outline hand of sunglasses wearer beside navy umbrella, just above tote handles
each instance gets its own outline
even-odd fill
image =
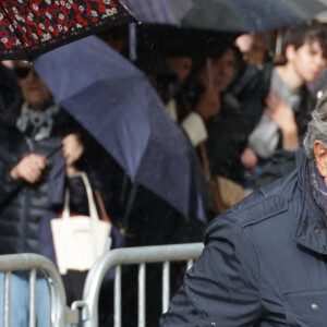
[[[84,153],[84,145],[81,136],[76,133],[66,135],[62,140],[62,153],[65,157],[66,174],[73,175],[77,172],[75,164],[80,160]]]

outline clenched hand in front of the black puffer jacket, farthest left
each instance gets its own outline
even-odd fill
[[[12,168],[10,175],[13,180],[22,179],[34,184],[41,178],[46,165],[47,159],[44,156],[31,154]]]

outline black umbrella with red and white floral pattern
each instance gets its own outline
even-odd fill
[[[119,0],[0,1],[0,60],[33,60],[63,44],[135,22]]]

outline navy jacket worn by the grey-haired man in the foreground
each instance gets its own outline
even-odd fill
[[[217,217],[205,244],[160,326],[326,326],[326,218],[307,161]]]

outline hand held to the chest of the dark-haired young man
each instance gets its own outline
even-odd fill
[[[282,135],[282,147],[295,148],[300,144],[299,130],[294,110],[281,99],[278,93],[269,94],[266,98],[264,112],[276,123]]]

